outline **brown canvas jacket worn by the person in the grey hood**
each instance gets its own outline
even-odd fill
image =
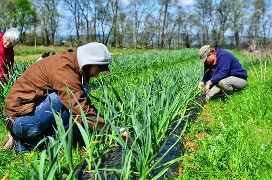
[[[86,99],[82,87],[82,75],[77,61],[77,52],[62,52],[46,57],[31,66],[14,83],[4,105],[4,116],[16,117],[34,110],[35,104],[47,96],[47,89],[56,90],[62,104],[70,109],[69,94],[64,85],[67,85],[80,103],[86,117],[96,122],[95,107]],[[80,115],[79,106],[70,94],[72,111]],[[77,119],[80,123],[81,118]],[[99,118],[98,131],[103,127],[103,120]],[[94,122],[88,121],[89,127],[94,128]]]

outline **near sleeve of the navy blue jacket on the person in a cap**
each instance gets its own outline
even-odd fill
[[[230,59],[227,55],[220,56],[220,63],[218,64],[218,71],[211,79],[213,84],[218,83],[220,80],[227,78],[230,74]]]

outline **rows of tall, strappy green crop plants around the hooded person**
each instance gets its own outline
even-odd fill
[[[76,179],[77,168],[86,161],[88,172],[95,179],[104,179],[103,175],[110,173],[120,179],[131,179],[134,176],[144,180],[150,178],[150,172],[157,169],[161,171],[153,179],[163,176],[171,164],[181,160],[180,157],[158,166],[171,150],[170,148],[162,158],[157,159],[164,147],[163,142],[175,132],[174,129],[166,134],[166,130],[170,124],[186,118],[184,114],[188,103],[199,95],[196,86],[202,68],[196,63],[196,54],[196,51],[187,50],[114,56],[110,65],[114,75],[101,75],[98,79],[91,80],[91,83],[98,85],[98,89],[91,91],[89,95],[99,109],[99,115],[105,120],[103,131],[90,131],[87,128],[88,118],[83,111],[83,124],[79,124],[77,118],[70,115],[71,126],[65,131],[61,117],[53,112],[57,122],[56,138],[47,137],[41,140],[40,144],[50,144],[45,145],[42,151],[34,150],[19,156],[11,153],[11,156],[21,159],[20,163],[1,162],[1,167],[14,168],[10,171],[0,169],[0,175],[4,176],[9,172],[11,179]],[[16,66],[18,71],[14,71],[7,85],[2,85],[1,90],[8,92],[30,63],[32,62]],[[70,98],[74,98],[69,88],[67,92],[70,93]],[[175,119],[177,116],[180,119]],[[72,127],[79,129],[84,142],[83,148],[72,146]],[[131,132],[129,138],[123,139],[116,127],[124,127]],[[2,130],[4,126],[1,125],[0,128]],[[176,143],[180,141],[177,140]],[[123,168],[99,169],[103,155],[117,146],[123,149]],[[1,159],[4,158],[7,157],[4,155]],[[18,166],[21,168],[18,169]]]

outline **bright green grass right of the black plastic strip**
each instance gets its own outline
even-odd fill
[[[248,57],[240,59],[249,64]],[[259,62],[253,64],[260,75]],[[195,149],[185,153],[180,179],[267,178],[260,173],[266,169],[268,176],[272,162],[272,66],[266,65],[265,82],[248,71],[246,89],[206,103],[190,128],[188,142]]]

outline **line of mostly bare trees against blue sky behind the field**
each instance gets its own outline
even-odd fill
[[[271,45],[271,0],[0,0],[0,31],[21,42],[255,49]],[[15,10],[16,9],[16,10]]]

